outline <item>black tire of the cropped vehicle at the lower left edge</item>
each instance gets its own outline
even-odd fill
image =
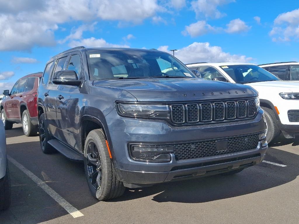
[[[10,206],[10,178],[8,167],[6,168],[6,174],[3,177],[3,185],[0,185],[0,211],[7,210]]]

